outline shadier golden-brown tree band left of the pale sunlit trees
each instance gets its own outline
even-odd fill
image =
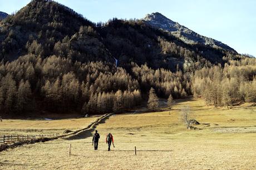
[[[27,54],[0,63],[0,111],[22,113],[121,112],[146,100],[151,87],[158,97],[191,94],[188,74],[130,64],[129,71],[106,62],[73,62]],[[144,98],[144,99],[143,99]]]

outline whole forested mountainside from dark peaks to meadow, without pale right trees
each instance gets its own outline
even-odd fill
[[[121,112],[146,101],[151,87],[158,97],[204,97],[204,88],[194,86],[196,71],[247,58],[187,44],[140,20],[95,24],[46,0],[31,1],[0,22],[0,42],[4,115]],[[252,81],[254,69],[248,74]]]

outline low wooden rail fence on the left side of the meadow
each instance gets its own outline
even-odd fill
[[[31,139],[38,138],[49,138],[49,137],[57,137],[59,133],[54,134],[27,134],[27,135],[10,135],[10,136],[0,136],[0,143],[14,143],[18,141],[29,141]]]

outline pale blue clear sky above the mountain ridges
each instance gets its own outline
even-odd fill
[[[214,38],[239,53],[256,57],[255,0],[56,0],[92,22],[110,18],[144,18],[160,12],[203,36]],[[0,11],[11,14],[30,0],[0,0]]]

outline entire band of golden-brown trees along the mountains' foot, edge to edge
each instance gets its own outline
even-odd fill
[[[206,104],[228,106],[256,102],[256,61],[229,60],[224,67],[204,67],[189,72],[152,69],[130,63],[130,69],[106,62],[72,62],[51,56],[28,54],[0,63],[0,111],[24,113],[38,109],[51,112],[122,112],[149,98],[202,97]]]

